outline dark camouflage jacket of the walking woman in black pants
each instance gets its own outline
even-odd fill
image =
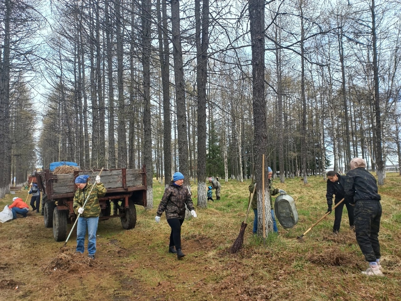
[[[162,216],[163,212],[166,211],[167,220],[170,218],[184,220],[185,204],[188,210],[195,210],[188,189],[184,186],[174,185],[172,182],[164,191],[164,195],[157,209],[157,216]]]

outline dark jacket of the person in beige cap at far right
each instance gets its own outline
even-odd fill
[[[380,201],[376,179],[363,167],[348,171],[344,191],[351,203],[360,200]]]

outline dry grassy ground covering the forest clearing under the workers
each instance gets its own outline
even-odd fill
[[[170,227],[164,215],[154,222],[164,190],[154,181],[154,209],[137,207],[136,228],[123,230],[118,219],[99,223],[95,260],[74,253],[75,233],[68,249],[61,249],[63,242],[53,240],[40,214],[0,224],[0,300],[401,300],[399,179],[388,174],[379,189],[384,278],[360,274],[367,264],[348,229],[345,209],[338,235],[331,232],[332,214],[302,240],[296,238],[326,210],[322,178],[309,178],[307,187],[299,179],[282,185],[276,179],[275,187],[296,201],[298,224],[289,230],[279,226],[279,236],[269,236],[263,246],[252,235],[250,214],[237,254],[229,248],[245,218],[249,180],[223,182],[221,200],[197,208],[198,218],[184,222],[184,260],[167,252]],[[196,195],[196,185],[192,192]],[[7,195],[0,207],[11,199]]]

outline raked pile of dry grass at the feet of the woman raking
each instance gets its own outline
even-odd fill
[[[46,275],[57,270],[70,271],[70,270],[81,270],[87,268],[88,266],[94,267],[98,263],[96,260],[89,258],[82,253],[76,253],[73,250],[67,250],[59,254],[56,258],[53,258],[49,263],[41,266],[41,270]]]

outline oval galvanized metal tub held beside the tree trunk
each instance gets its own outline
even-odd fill
[[[274,202],[274,214],[280,225],[289,229],[298,223],[298,211],[295,201],[288,194],[280,194]]]

